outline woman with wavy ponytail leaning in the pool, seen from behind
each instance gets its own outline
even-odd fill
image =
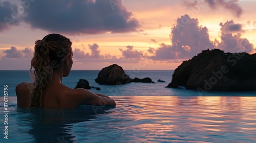
[[[116,105],[108,96],[87,89],[72,89],[61,83],[73,64],[70,39],[59,34],[49,34],[35,41],[31,60],[31,76],[34,82],[22,82],[16,86],[17,106],[30,108],[75,108],[87,105]],[[34,71],[32,72],[32,68]]]

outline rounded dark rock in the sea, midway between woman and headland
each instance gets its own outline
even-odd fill
[[[117,64],[102,68],[98,78],[95,79],[95,82],[107,85],[125,84],[131,81],[132,79],[124,73],[123,68]]]

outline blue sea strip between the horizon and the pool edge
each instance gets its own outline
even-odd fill
[[[196,90],[165,88],[171,81],[174,70],[125,70],[132,79],[149,77],[155,83],[128,83],[124,85],[99,85],[94,80],[100,70],[71,70],[68,77],[62,78],[62,83],[75,88],[79,79],[88,80],[90,86],[100,87],[101,90],[90,89],[93,92],[108,96],[256,96],[256,91],[220,92],[210,91],[199,93]],[[29,70],[0,70],[0,86],[8,85],[9,96],[14,97],[15,87],[23,81],[31,82]],[[157,80],[165,82],[157,82]]]

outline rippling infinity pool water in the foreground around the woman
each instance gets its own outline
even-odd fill
[[[112,98],[115,108],[42,110],[17,108],[9,97],[1,142],[256,142],[255,97]]]

